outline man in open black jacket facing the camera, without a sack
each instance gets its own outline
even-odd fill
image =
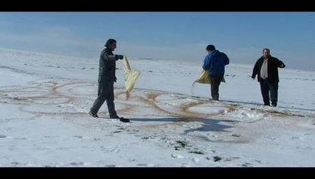
[[[260,82],[260,90],[262,92],[262,98],[264,99],[264,105],[269,106],[271,100],[271,105],[276,107],[279,83],[278,68],[284,68],[286,65],[276,57],[272,57],[269,49],[264,49],[262,53],[262,57],[256,61],[251,78],[255,79],[257,74],[257,80]]]

